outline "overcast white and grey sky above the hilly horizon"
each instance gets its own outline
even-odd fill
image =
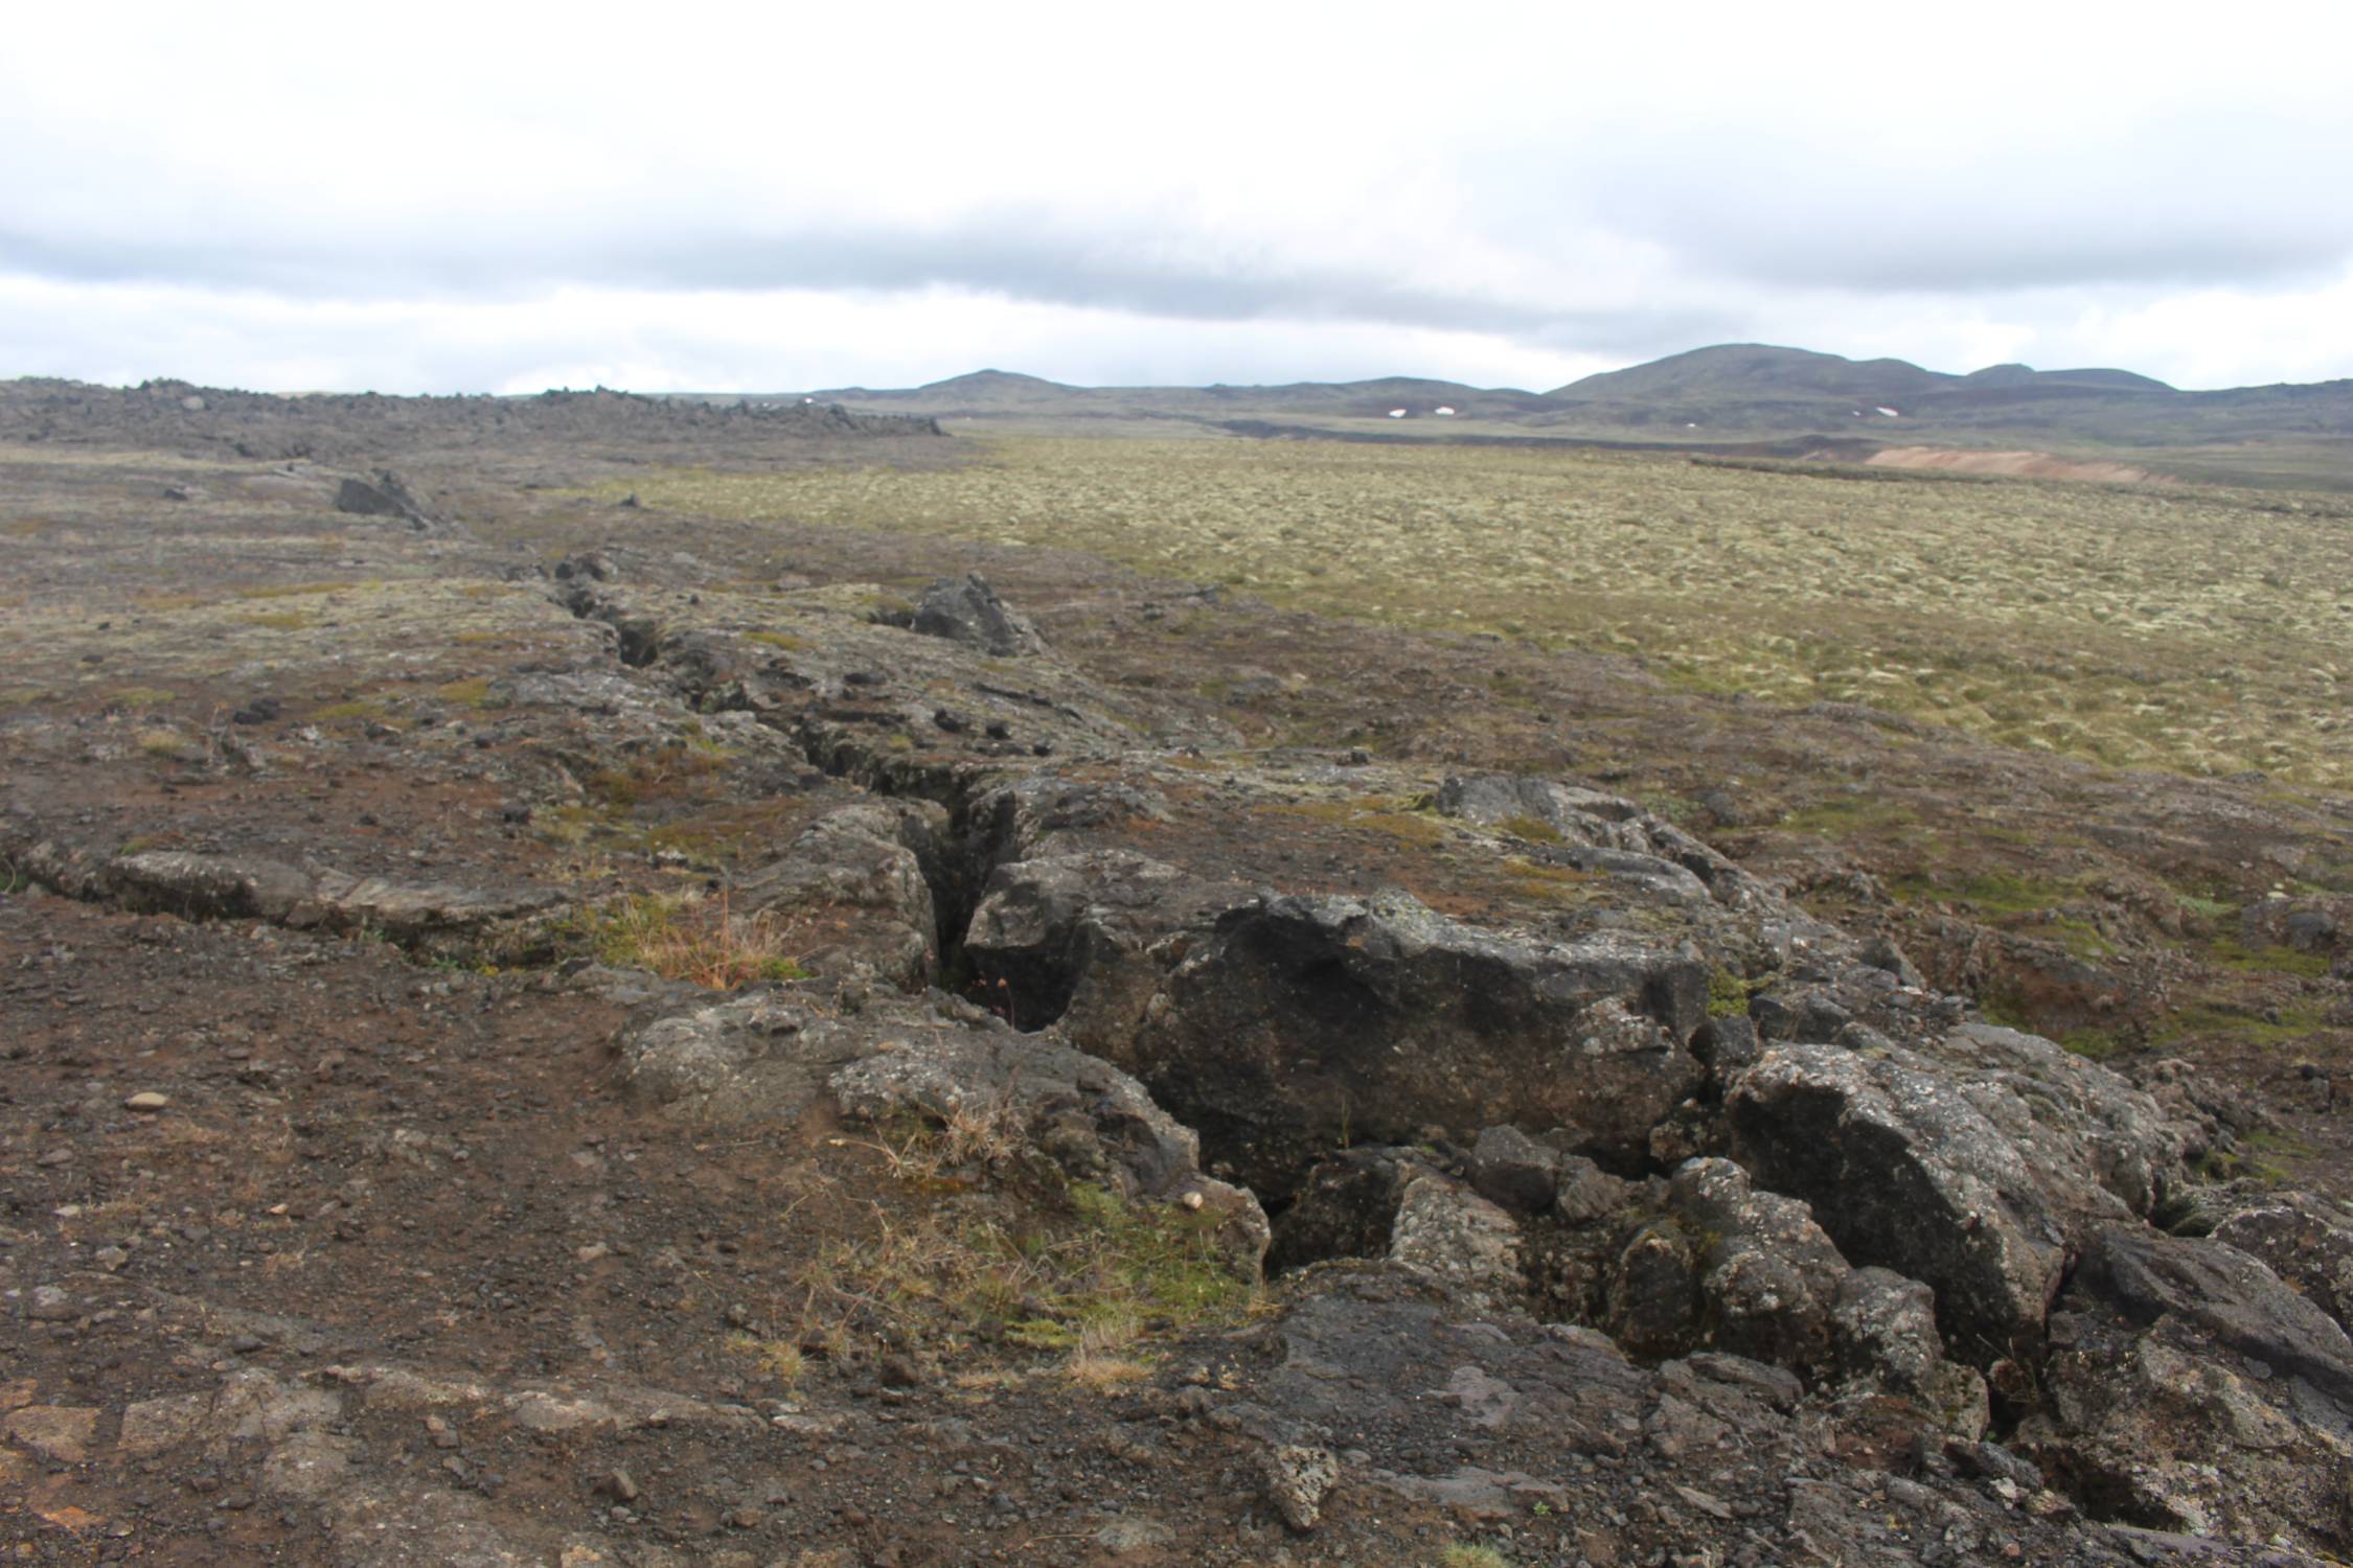
[[[1640,14],[1617,14],[1640,12]],[[2353,376],[2353,7],[21,7],[0,376]]]

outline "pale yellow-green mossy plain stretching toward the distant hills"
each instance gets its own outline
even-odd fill
[[[974,440],[932,470],[652,470],[645,505],[1056,545],[1409,628],[1624,654],[2002,745],[2353,788],[2353,505],[1671,456]]]

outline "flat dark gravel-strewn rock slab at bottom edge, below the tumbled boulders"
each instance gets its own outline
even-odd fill
[[[1398,1497],[1508,1523],[1544,1561],[2165,1561],[1988,1443],[1840,1462],[1875,1429],[1772,1366],[1699,1352],[1645,1371],[1591,1328],[1464,1312],[1393,1265],[1315,1281],[1268,1328],[1271,1354],[1240,1373],[1226,1420],[1268,1448],[1341,1455],[1355,1519]],[[2254,1568],[2259,1554],[2214,1561]]]

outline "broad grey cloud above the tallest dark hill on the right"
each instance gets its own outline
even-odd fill
[[[2313,186],[2353,141],[2311,125],[2167,122],[1904,155],[1772,125],[1664,125],[1607,153],[1480,148],[1464,188],[1527,244],[1612,233],[1687,277],[1866,294],[2311,282],[2353,259],[2353,207]]]

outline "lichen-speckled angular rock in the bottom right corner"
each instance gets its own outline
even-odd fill
[[[2017,1441],[2101,1512],[2353,1544],[2353,1342],[2254,1258],[2101,1234],[2052,1316],[2042,1385]]]

